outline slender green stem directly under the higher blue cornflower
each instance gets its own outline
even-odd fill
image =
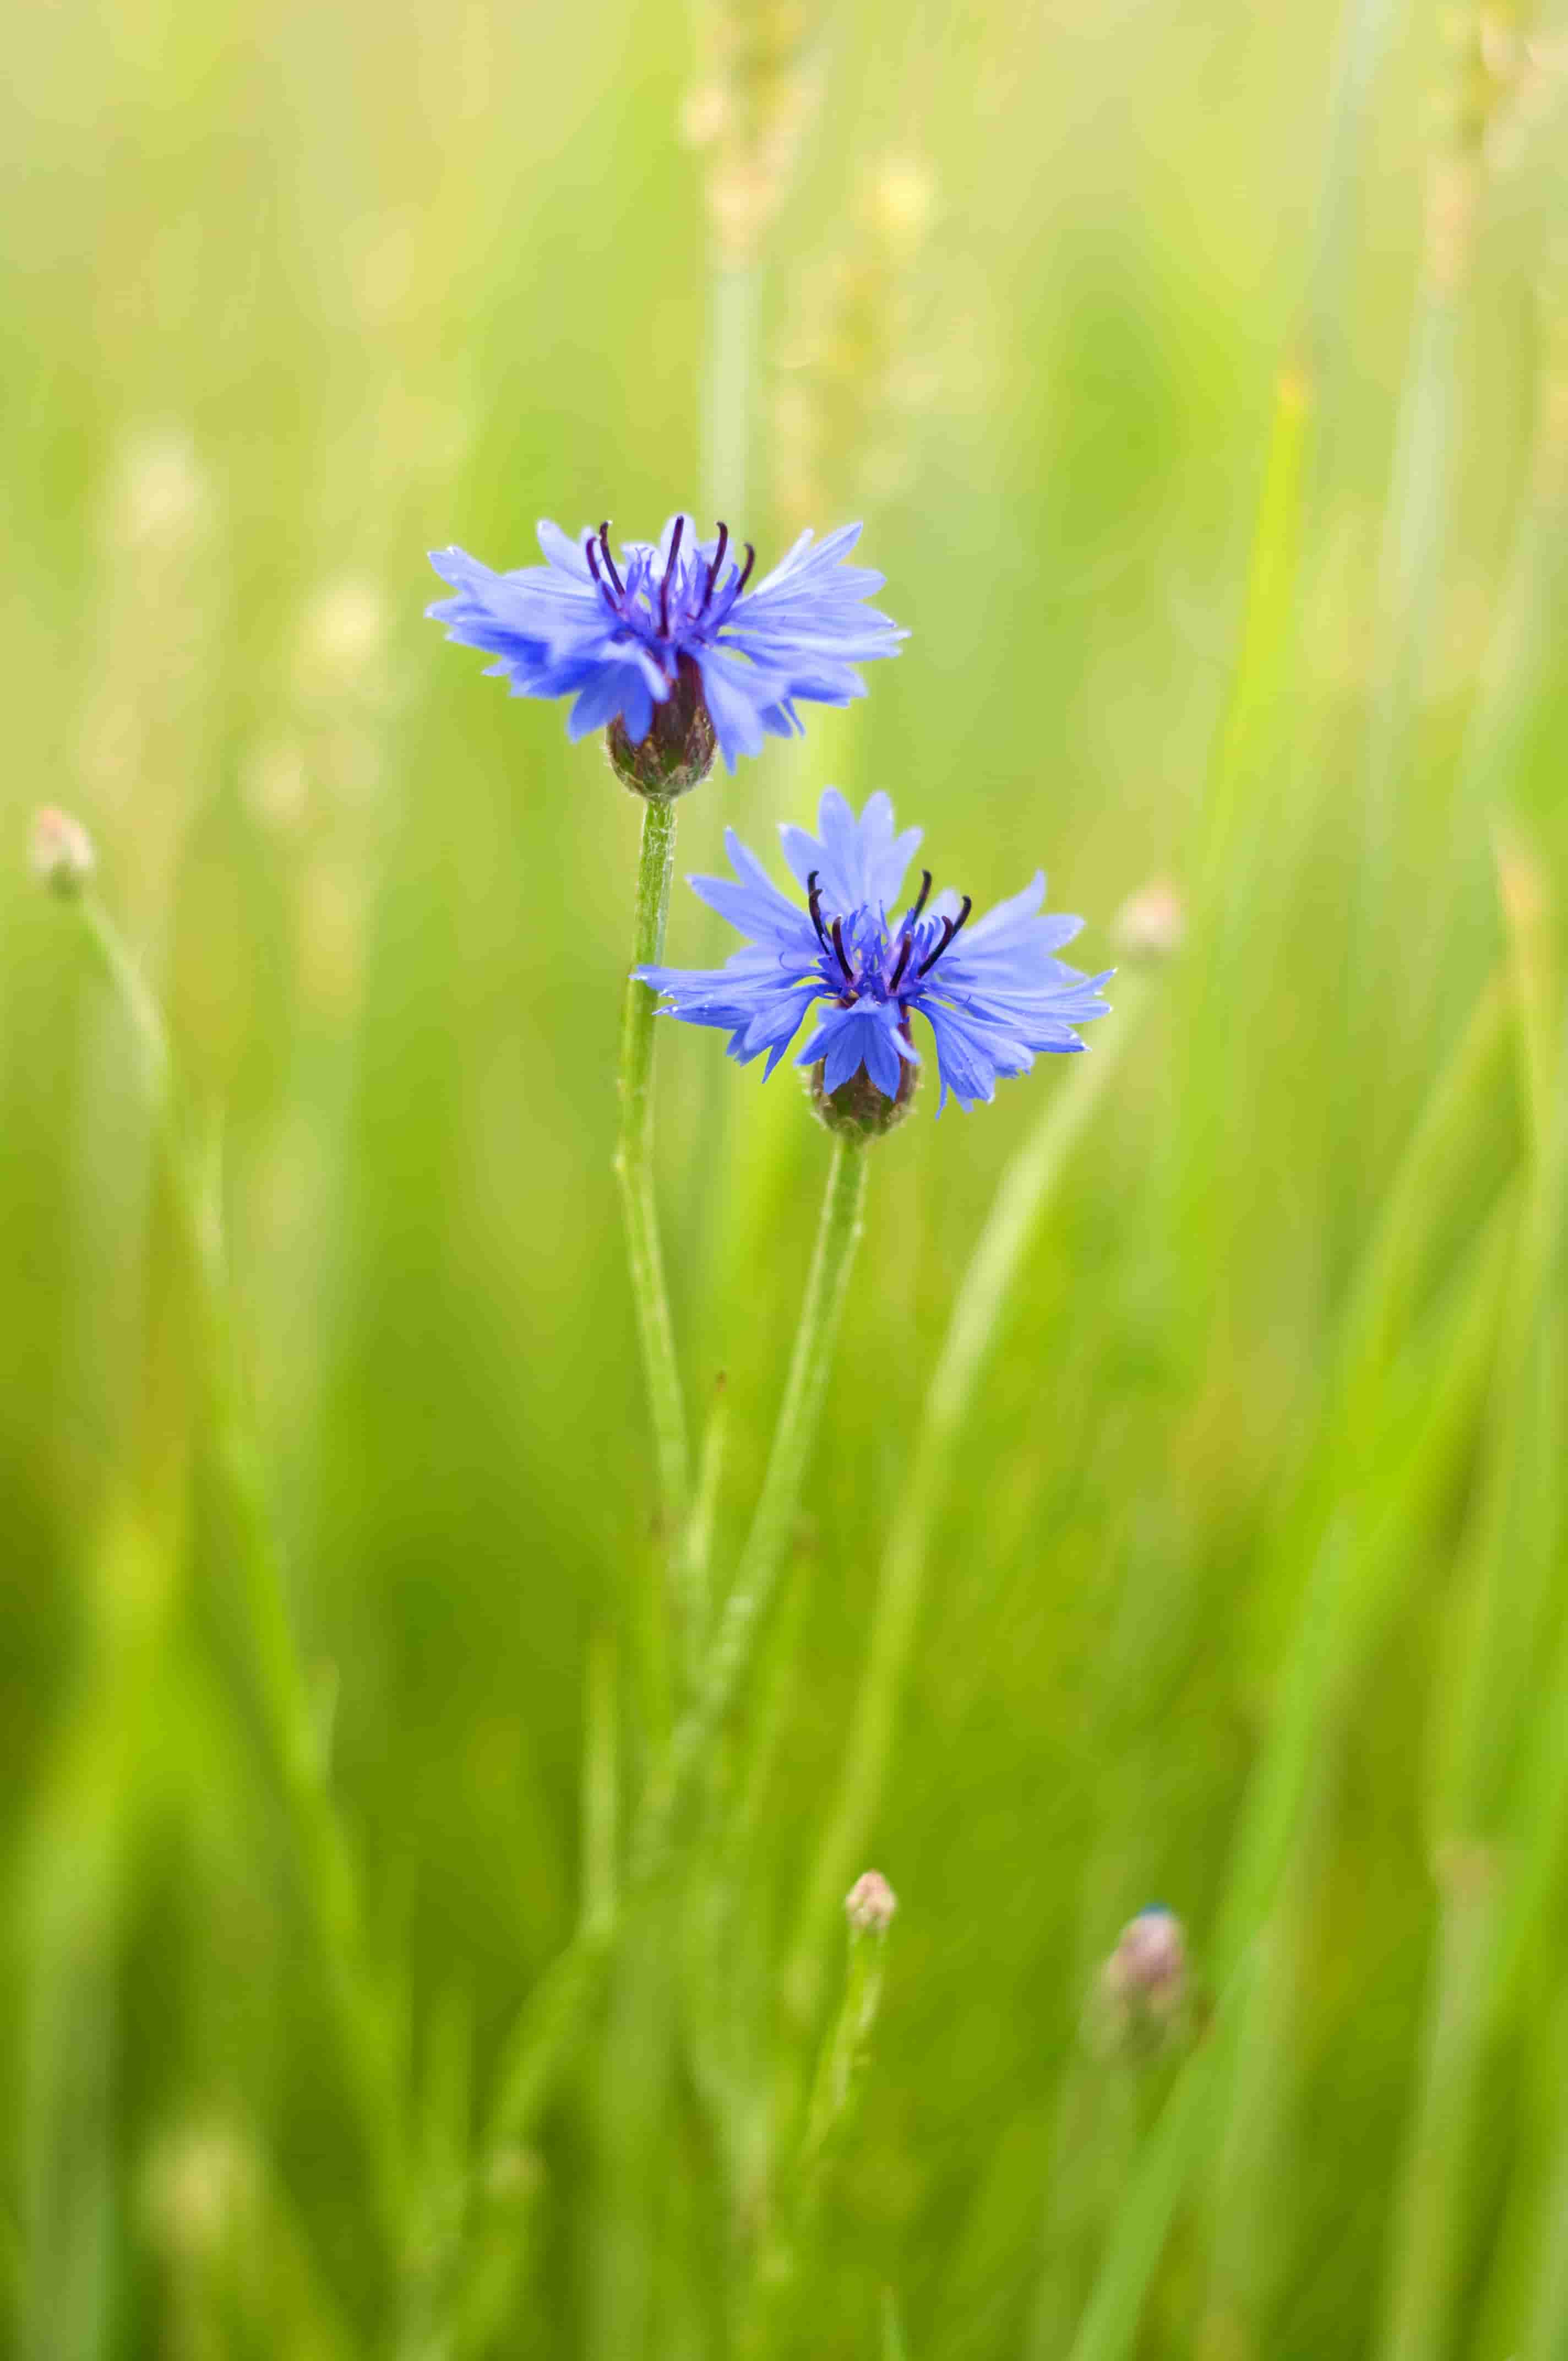
[[[656,966],[664,959],[664,921],[671,907],[675,869],[675,803],[649,796],[642,803],[642,855],[638,859],[638,916],[633,930],[633,966]],[[616,1143],[616,1180],[626,1221],[626,1256],[638,1306],[638,1339],[647,1405],[654,1419],[659,1454],[659,1497],[666,1532],[680,1530],[687,1499],[687,1426],[675,1362],[675,1332],[664,1289],[664,1254],[659,1251],[659,1209],[654,1204],[654,1011],[659,996],[626,980],[621,1013],[621,1136]]]

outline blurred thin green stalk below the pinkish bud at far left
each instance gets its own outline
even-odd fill
[[[309,1915],[345,2080],[359,2118],[378,2224],[387,2252],[399,2257],[404,2141],[397,2068],[364,1957],[359,1884],[326,1780],[312,1683],[293,1636],[283,1565],[241,1376],[217,1192],[191,1147],[163,1011],[109,914],[92,897],[83,897],[78,909],[99,966],[135,1027],[146,1065],[158,1150],[191,1261],[203,1334],[208,1440],[229,1509],[231,1565],[250,1646],[255,1698],[288,1813],[300,1894]]]

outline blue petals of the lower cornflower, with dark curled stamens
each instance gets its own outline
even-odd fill
[[[1110,970],[1091,977],[1053,956],[1084,921],[1039,914],[1044,876],[971,926],[968,895],[933,895],[926,869],[916,900],[890,918],[921,831],[895,836],[886,796],[855,819],[831,786],[817,829],[779,829],[805,909],[725,831],[737,883],[692,878],[692,888],[749,942],[723,968],[635,968],[671,1015],[723,1025],[741,1065],[767,1051],[767,1077],[812,1001],[827,1001],[796,1062],[819,1062],[827,1093],[864,1070],[897,1100],[921,1062],[909,1036],[919,1013],[937,1044],[937,1112],[949,1091],[961,1107],[989,1100],[997,1079],[1025,1074],[1037,1051],[1084,1048],[1072,1027],[1108,1013],[1098,989]]]

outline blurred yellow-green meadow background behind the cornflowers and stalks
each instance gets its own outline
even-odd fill
[[[12,57],[12,2349],[760,2349],[777,1969],[881,1546],[997,1178],[1091,1060],[876,1152],[718,1903],[635,1936],[491,2160],[463,2311],[375,2224],[187,1240],[26,874],[33,805],[76,810],[222,1157],[435,2248],[576,1922],[583,1757],[600,1825],[647,1775],[661,1551],[609,1169],[638,810],[423,621],[423,552],[723,501],[763,562],[864,515],[912,640],[692,796],[680,871],[836,781],[980,907],[1044,864],[1089,966],[1150,878],[1188,914],[940,1502],[864,2099],[767,2335],[1568,2352],[1561,26],[64,0]],[[678,888],[671,956],[718,937]],[[723,1580],[827,1143],[789,1072],[678,1027],[659,1060]],[[1152,1898],[1185,2023],[1105,2056],[1086,1993]]]

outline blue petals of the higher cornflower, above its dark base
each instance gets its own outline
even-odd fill
[[[897,654],[904,633],[864,604],[883,576],[838,562],[857,541],[857,524],[815,548],[801,534],[746,590],[756,550],[746,543],[746,562],[727,562],[727,524],[697,541],[692,519],[678,515],[656,543],[621,543],[616,560],[609,524],[569,541],[545,522],[543,567],[491,574],[465,550],[432,550],[456,597],[427,611],[451,640],[491,649],[491,673],[510,675],[512,696],[571,696],[574,739],[619,722],[638,746],[656,706],[682,685],[687,696],[699,692],[734,770],[741,753],[760,753],[767,732],[801,730],[796,701],[845,706],[864,696],[855,666]]]

